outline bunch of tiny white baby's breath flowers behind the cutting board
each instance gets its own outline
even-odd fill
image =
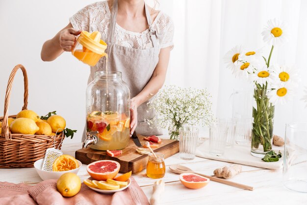
[[[170,139],[178,140],[182,125],[205,126],[213,121],[210,100],[211,95],[206,89],[165,86],[148,103],[156,116],[146,121],[152,127],[168,128]]]

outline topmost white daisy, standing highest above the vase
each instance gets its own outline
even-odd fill
[[[284,22],[271,19],[267,22],[267,26],[261,32],[263,41],[273,46],[281,45],[288,40],[288,30]]]

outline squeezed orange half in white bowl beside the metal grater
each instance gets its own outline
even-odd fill
[[[59,156],[55,159],[52,166],[53,172],[62,172],[62,171],[68,171],[68,170],[74,170],[78,168],[78,162],[77,160],[68,155],[63,154],[62,156]]]

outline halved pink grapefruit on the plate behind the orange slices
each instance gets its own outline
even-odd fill
[[[86,167],[86,171],[94,179],[101,181],[113,179],[119,172],[121,165],[113,160],[101,160],[93,162]]]

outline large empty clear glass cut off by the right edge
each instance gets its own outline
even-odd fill
[[[286,124],[282,181],[292,191],[307,193],[307,122]]]

